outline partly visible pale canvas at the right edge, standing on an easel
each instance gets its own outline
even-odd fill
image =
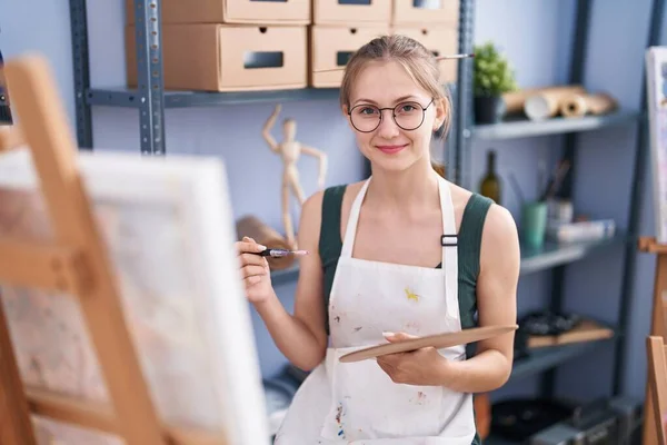
[[[646,52],[656,240],[667,244],[667,47]]]

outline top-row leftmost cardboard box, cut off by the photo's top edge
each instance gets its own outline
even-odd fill
[[[162,23],[309,24],[310,0],[162,0]],[[127,23],[135,2],[126,0]]]

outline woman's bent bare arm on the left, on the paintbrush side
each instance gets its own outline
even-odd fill
[[[309,370],[320,364],[327,349],[322,271],[318,253],[322,192],[303,202],[299,224],[299,247],[309,251],[300,259],[295,314],[290,315],[278,297],[256,304],[276,346],[297,367]]]

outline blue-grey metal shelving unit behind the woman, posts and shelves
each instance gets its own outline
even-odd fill
[[[166,155],[165,110],[168,108],[220,107],[237,103],[260,103],[276,101],[336,100],[338,89],[297,89],[279,91],[248,92],[199,92],[165,91],[161,55],[161,0],[135,0],[136,49],[138,55],[138,88],[130,90],[91,89],[89,77],[89,49],[86,0],[70,0],[71,34],[73,55],[73,75],[76,92],[76,129],[79,147],[92,149],[91,107],[108,106],[133,108],[139,111],[140,150],[145,155]],[[664,12],[664,0],[654,0],[653,18],[647,44],[655,44],[659,39],[659,26]],[[587,32],[591,10],[591,0],[577,0],[577,17],[571,59],[571,83],[580,82],[584,77],[584,60],[587,47]],[[460,0],[459,11],[459,51],[472,52],[475,23],[475,0]],[[631,179],[633,194],[628,235],[618,236],[599,243],[546,245],[542,249],[524,251],[521,275],[550,269],[554,274],[554,293],[551,308],[558,310],[563,301],[563,281],[565,267],[588,255],[599,253],[603,248],[625,246],[625,276],[621,293],[621,305],[618,316],[617,332],[624,333],[630,317],[631,286],[634,280],[635,253],[634,235],[638,227],[641,195],[644,194],[643,168],[647,157],[647,122],[644,118],[645,105],[641,96],[643,111],[619,110],[604,117],[584,117],[577,119],[551,119],[542,122],[511,120],[490,126],[472,123],[472,61],[460,60],[458,80],[451,86],[455,115],[451,132],[447,140],[446,160],[447,177],[456,184],[469,188],[470,145],[475,139],[508,139],[545,135],[565,135],[564,145],[567,156],[576,155],[577,132],[601,130],[617,125],[639,123],[638,139],[635,147],[636,165]],[[571,184],[567,185],[571,191]],[[272,274],[273,283],[286,284],[298,277],[299,270],[292,267]],[[614,369],[614,394],[617,394],[623,380],[623,360],[626,356],[627,336],[619,335],[611,340],[589,342],[584,344],[544,348],[535,352],[529,358],[518,360],[512,372],[512,379],[545,373],[544,395],[554,390],[554,374],[558,365],[586,354],[591,348],[614,343],[617,348]]]

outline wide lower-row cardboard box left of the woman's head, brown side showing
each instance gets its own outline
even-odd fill
[[[305,88],[306,27],[165,24],[165,88],[246,91]],[[135,27],[126,27],[128,86],[137,86]]]

